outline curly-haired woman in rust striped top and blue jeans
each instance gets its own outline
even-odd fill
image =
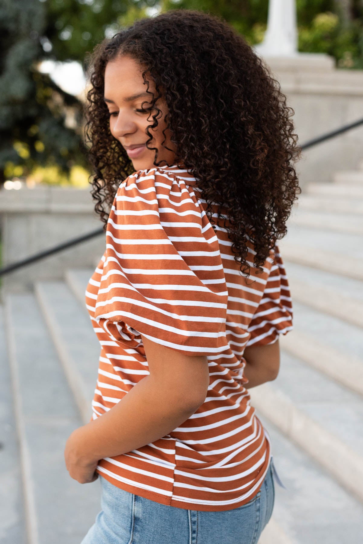
[[[293,327],[276,245],[299,190],[292,110],[242,36],[195,10],[137,21],[89,70],[107,243],[85,293],[93,414],[65,448],[72,478],[101,475],[82,544],[256,543],[273,464],[248,388],[276,378]]]

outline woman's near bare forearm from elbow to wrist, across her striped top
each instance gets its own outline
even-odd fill
[[[196,410],[176,405],[165,388],[145,376],[108,412],[79,429],[82,452],[95,461],[131,452],[169,434]]]

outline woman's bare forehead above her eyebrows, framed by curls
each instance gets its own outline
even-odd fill
[[[118,57],[107,63],[104,74],[104,96],[123,97],[146,92],[147,85],[143,82],[142,72],[145,70],[135,59],[131,57]],[[154,91],[154,83],[150,76],[149,90]],[[147,95],[151,96],[151,95]]]

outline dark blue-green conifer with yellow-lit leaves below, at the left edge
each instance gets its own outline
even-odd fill
[[[39,0],[3,0],[0,8],[0,183],[12,171],[27,175],[36,164],[69,171],[85,162],[79,128],[82,106],[38,66],[44,58],[45,5]]]

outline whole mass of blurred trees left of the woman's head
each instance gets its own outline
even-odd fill
[[[2,0],[0,4],[0,184],[37,165],[69,174],[87,166],[83,106],[40,71],[43,60],[77,60],[155,0]]]

